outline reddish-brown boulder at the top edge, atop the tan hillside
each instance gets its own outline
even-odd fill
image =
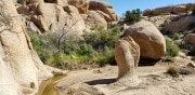
[[[78,9],[80,14],[86,14],[89,8],[88,0],[67,0],[68,4],[74,5]]]

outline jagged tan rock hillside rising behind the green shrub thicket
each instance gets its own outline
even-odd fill
[[[113,6],[88,0],[17,0],[16,10],[27,28],[39,33],[73,31],[82,35],[119,21]]]

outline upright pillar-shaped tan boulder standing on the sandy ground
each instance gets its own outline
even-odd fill
[[[140,46],[128,36],[115,44],[115,59],[118,65],[117,83],[128,86],[140,83],[136,76],[136,67],[140,59]]]

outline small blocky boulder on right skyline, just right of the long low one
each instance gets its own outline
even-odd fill
[[[173,11],[174,14],[180,14],[180,13],[187,13],[186,11],[186,5],[182,4],[182,5],[176,5],[173,6]]]

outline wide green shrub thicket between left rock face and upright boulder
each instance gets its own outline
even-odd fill
[[[86,32],[82,37],[67,33],[61,42],[58,51],[57,40],[61,35],[48,33],[38,36],[28,32],[34,49],[41,60],[50,66],[73,69],[76,65],[96,64],[104,66],[115,64],[114,44],[119,39],[120,30],[118,26],[113,26],[105,30],[96,28],[94,31]]]

